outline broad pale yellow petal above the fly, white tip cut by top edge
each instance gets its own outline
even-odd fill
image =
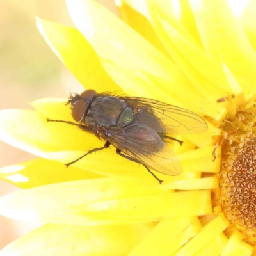
[[[92,0],[67,0],[67,6],[77,28],[101,58],[120,67],[140,68],[163,79],[170,78],[168,58],[109,10]]]

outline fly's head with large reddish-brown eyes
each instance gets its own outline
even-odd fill
[[[70,99],[66,105],[70,104],[72,117],[76,122],[82,122],[84,120],[88,107],[96,95],[97,93],[93,89],[85,90],[80,95],[70,95]]]

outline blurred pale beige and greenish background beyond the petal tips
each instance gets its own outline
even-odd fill
[[[99,0],[118,15],[114,0]],[[26,102],[68,97],[81,84],[58,60],[36,28],[35,16],[74,27],[65,0],[0,1],[0,109],[29,109]],[[0,141],[0,168],[35,156]],[[19,188],[0,180],[0,196]],[[0,216],[0,250],[38,227]]]

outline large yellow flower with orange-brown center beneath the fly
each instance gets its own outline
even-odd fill
[[[223,0],[117,4],[142,36],[92,0],[67,0],[77,29],[41,19],[38,28],[85,88],[191,109],[209,129],[177,136],[183,146],[172,149],[183,173],[157,174],[159,185],[111,150],[66,169],[63,163],[102,145],[72,125],[47,122],[72,121],[67,99],[36,100],[36,111],[1,111],[0,139],[42,158],[1,168],[2,179],[26,189],[0,198],[0,214],[42,227],[0,255],[251,255],[253,15],[241,22]]]

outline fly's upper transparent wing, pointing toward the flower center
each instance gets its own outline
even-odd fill
[[[141,97],[120,97],[135,119],[156,132],[196,134],[207,131],[205,120],[188,109]]]

